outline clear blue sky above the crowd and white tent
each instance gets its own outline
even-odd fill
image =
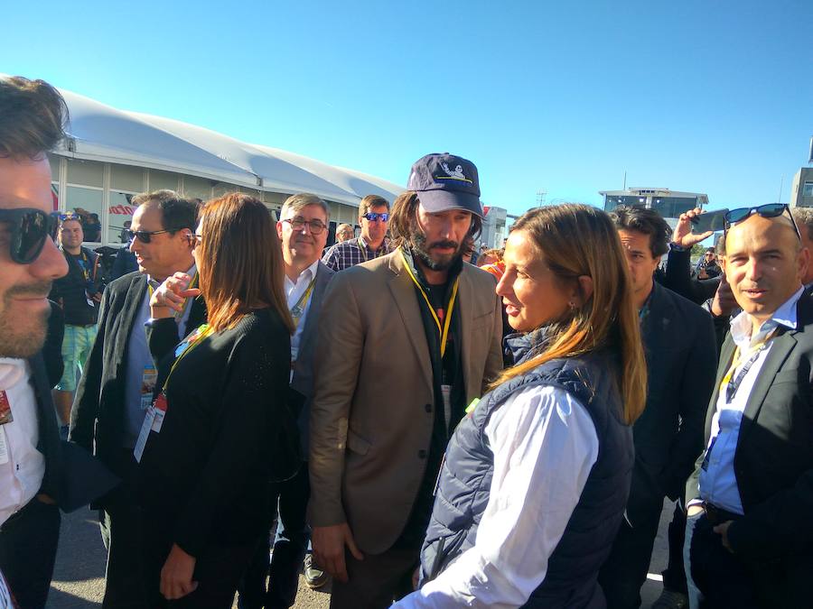
[[[133,5],[122,8],[120,5]],[[0,72],[517,213],[600,189],[774,201],[813,135],[813,2],[5,2]]]

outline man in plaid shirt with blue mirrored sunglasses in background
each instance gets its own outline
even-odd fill
[[[333,271],[343,271],[389,254],[392,250],[386,238],[388,222],[389,202],[386,198],[378,195],[362,198],[359,203],[361,236],[333,245],[322,257],[322,263]]]

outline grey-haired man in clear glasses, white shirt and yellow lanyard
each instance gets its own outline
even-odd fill
[[[308,453],[308,419],[313,388],[313,354],[322,296],[334,272],[319,258],[327,241],[331,211],[315,195],[289,197],[280,212],[276,231],[282,242],[285,261],[285,296],[296,329],[291,337],[291,391],[289,405],[298,412],[303,458]],[[261,544],[240,589],[240,609],[289,607],[294,604],[299,570],[308,549],[310,530],[306,509],[310,498],[308,464],[293,478],[271,484],[271,504],[277,508],[282,531],[274,544],[268,566],[268,545]],[[278,506],[278,507],[277,507]],[[271,531],[272,533],[274,531]],[[269,575],[266,592],[266,573]],[[308,556],[305,580],[311,587],[327,582],[322,570]]]

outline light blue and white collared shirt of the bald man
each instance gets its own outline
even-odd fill
[[[780,326],[796,329],[796,305],[803,293],[804,288],[799,288],[789,300],[776,309],[771,318],[765,321],[753,336],[751,317],[748,313],[743,311],[731,320],[731,337],[741,354],[739,364],[731,375],[732,381],[740,374],[750,355],[753,355],[754,349],[759,348],[774,330]],[[720,387],[717,395],[711,436],[706,447],[703,465],[700,468],[700,497],[728,512],[744,513],[737,477],[734,474],[734,456],[737,451],[745,406],[770,351],[771,341],[769,340],[765,348],[762,348],[756,355],[747,374],[743,376],[732,401],[727,401],[725,395],[728,383]]]

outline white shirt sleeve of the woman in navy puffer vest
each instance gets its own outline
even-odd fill
[[[593,418],[564,390],[535,386],[494,411],[485,435],[494,475],[474,545],[393,609],[519,607],[545,581],[598,460]]]

